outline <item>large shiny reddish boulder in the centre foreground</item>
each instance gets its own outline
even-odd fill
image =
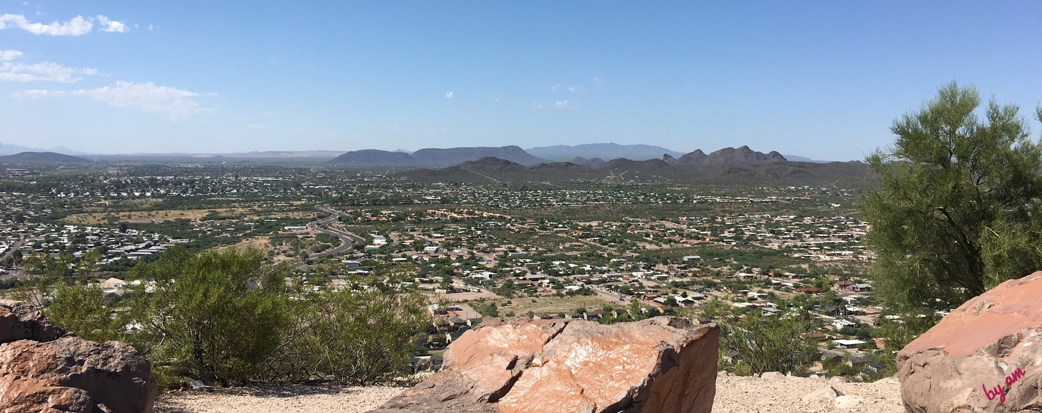
[[[494,319],[454,341],[442,371],[370,413],[708,413],[718,342],[715,324],[678,317]]]

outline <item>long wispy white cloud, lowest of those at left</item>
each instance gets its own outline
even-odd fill
[[[173,120],[187,119],[193,115],[213,112],[199,104],[194,98],[204,95],[181,89],[155,86],[153,82],[134,83],[117,81],[116,87],[80,89],[78,91],[28,90],[16,94],[17,97],[44,98],[80,96],[108,103],[113,106],[132,107],[147,113],[164,113]]]

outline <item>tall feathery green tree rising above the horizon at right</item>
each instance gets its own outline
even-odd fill
[[[979,106],[974,88],[948,83],[867,159],[879,179],[861,200],[871,272],[898,314],[934,317],[1042,269],[1042,147],[1017,106]]]

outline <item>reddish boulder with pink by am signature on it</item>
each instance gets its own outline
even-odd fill
[[[910,412],[1042,411],[1042,271],[966,301],[897,366]]]

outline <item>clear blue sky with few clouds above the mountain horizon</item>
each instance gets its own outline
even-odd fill
[[[1034,113],[1040,21],[1038,1],[4,1],[0,143],[846,161],[950,80]]]

